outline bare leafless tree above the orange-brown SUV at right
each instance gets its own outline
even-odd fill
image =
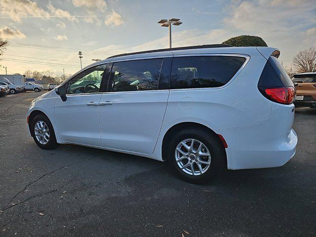
[[[298,73],[309,73],[316,71],[316,47],[299,51],[293,58],[293,64]]]

